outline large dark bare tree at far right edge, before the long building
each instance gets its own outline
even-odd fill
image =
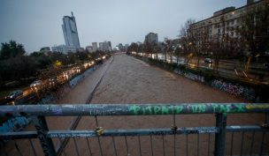
[[[264,53],[269,48],[269,1],[248,6],[241,14],[242,26],[237,28],[251,56]]]

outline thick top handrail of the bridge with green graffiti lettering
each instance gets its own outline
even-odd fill
[[[269,103],[75,104],[1,106],[0,116],[269,113]]]

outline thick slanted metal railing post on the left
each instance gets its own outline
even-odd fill
[[[44,116],[31,116],[45,156],[56,156],[52,139],[47,137],[48,125]]]

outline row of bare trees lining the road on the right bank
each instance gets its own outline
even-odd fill
[[[214,60],[214,71],[218,71],[220,59],[236,59],[245,63],[245,66],[250,62],[257,62],[259,56],[260,62],[269,62],[269,4],[257,5],[246,10],[238,18],[240,26],[231,27],[227,24],[227,17],[221,16],[219,23],[216,24],[218,33],[210,33],[213,27],[204,26],[199,30],[193,26],[196,23],[195,19],[188,19],[181,26],[179,41],[174,44],[172,40],[165,40],[158,44],[144,42],[142,44],[132,43],[127,52],[138,52],[145,54],[162,53],[166,57],[170,56],[185,56],[188,61],[196,56],[196,66],[199,67],[202,56],[211,57]],[[213,26],[213,25],[211,25]],[[233,28],[232,35],[227,30]],[[171,60],[172,62],[172,60]],[[245,70],[247,70],[245,68]]]

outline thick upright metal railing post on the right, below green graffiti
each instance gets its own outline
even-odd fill
[[[227,114],[216,115],[216,127],[219,133],[215,134],[215,156],[223,156],[225,152],[225,136],[226,136]]]

